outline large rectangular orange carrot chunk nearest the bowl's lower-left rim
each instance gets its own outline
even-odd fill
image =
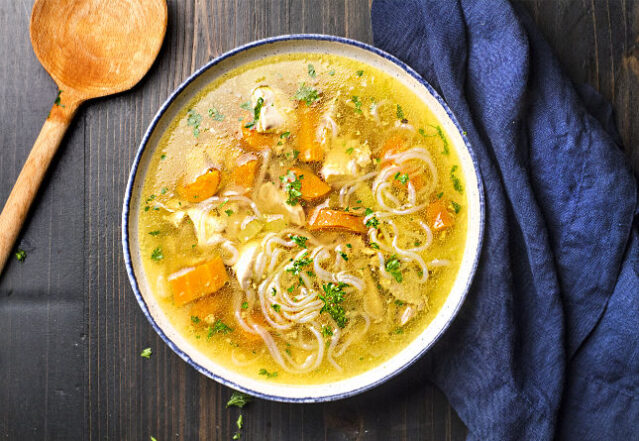
[[[208,262],[171,274],[168,280],[174,303],[182,306],[219,290],[228,282],[229,276],[222,259],[214,257]]]

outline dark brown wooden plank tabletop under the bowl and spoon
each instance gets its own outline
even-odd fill
[[[526,1],[570,77],[614,103],[639,169],[639,1]],[[0,206],[56,95],[29,42],[32,0],[0,1]],[[196,68],[237,45],[313,32],[372,42],[368,0],[171,0],[164,47],[132,92],[82,108],[0,278],[0,439],[230,440],[231,391],[173,354],[126,277],[120,214],[153,114]],[[153,348],[143,359],[142,348]],[[421,363],[424,363],[422,361]],[[257,401],[242,440],[462,440],[445,396],[420,374],[324,405]]]

